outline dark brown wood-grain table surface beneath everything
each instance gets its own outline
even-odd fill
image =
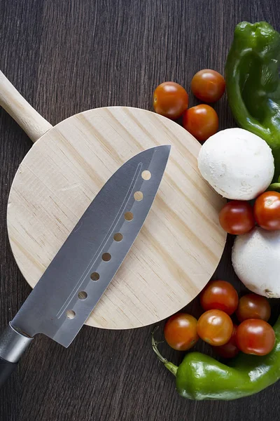
[[[1,0],[0,67],[53,125],[85,109],[152,109],[153,89],[223,73],[235,25],[266,20],[280,29],[278,0]],[[197,102],[190,95],[190,105]],[[226,98],[220,128],[235,126]],[[0,330],[30,288],[6,232],[8,192],[31,141],[0,109]],[[242,290],[229,239],[216,277]],[[188,312],[200,314],[197,300]],[[274,318],[279,308],[274,307]],[[162,333],[164,322],[160,325]],[[151,349],[152,326],[113,331],[84,327],[69,349],[38,336],[0,390],[1,421],[276,421],[280,382],[237,401],[187,401]],[[197,349],[209,352],[200,343]],[[162,345],[175,363],[181,354]]]

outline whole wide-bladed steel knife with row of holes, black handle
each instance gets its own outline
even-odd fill
[[[146,149],[106,182],[0,337],[0,386],[36,333],[69,347],[137,237],[170,146]]]

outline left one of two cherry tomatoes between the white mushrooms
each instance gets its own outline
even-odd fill
[[[232,200],[219,213],[221,227],[229,234],[246,234],[255,226],[253,208],[250,203]]]

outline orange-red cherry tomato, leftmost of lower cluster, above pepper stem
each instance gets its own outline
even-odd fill
[[[198,341],[197,319],[186,313],[171,316],[165,324],[165,340],[177,351],[186,351]]]

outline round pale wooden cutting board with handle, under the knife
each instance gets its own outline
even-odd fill
[[[197,169],[200,143],[163,116],[131,107],[81,112],[52,127],[0,72],[0,105],[36,142],[8,199],[15,260],[34,287],[94,196],[135,154],[172,145],[151,211],[87,325],[137,328],[179,311],[214,273],[224,204]]]

